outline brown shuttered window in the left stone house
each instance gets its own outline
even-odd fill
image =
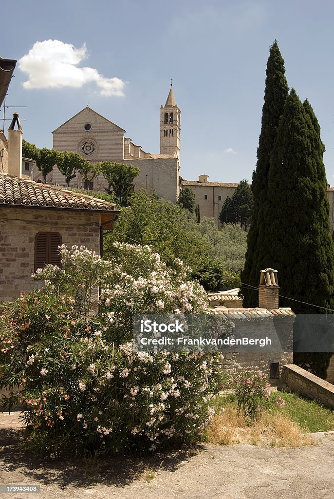
[[[61,266],[58,246],[62,244],[59,232],[38,232],[35,236],[35,267],[42,268],[46,263]]]

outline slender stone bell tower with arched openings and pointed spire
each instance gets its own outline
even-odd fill
[[[180,115],[170,80],[165,106],[160,107],[160,154],[176,154],[180,158]]]

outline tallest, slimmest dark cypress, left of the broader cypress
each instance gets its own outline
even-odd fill
[[[245,268],[241,273],[241,281],[255,287],[259,284],[260,270],[266,268],[264,262],[267,260],[267,228],[264,219],[264,209],[268,204],[270,155],[274,147],[277,128],[288,95],[284,59],[276,40],[270,47],[266,75],[257,164],[252,180],[252,192],[254,195],[252,223],[248,233]],[[242,292],[244,295],[244,306],[257,306],[258,296],[256,290],[250,290],[242,286]]]

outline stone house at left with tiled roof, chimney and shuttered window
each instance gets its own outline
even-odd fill
[[[14,125],[18,129],[14,130]],[[31,273],[60,264],[58,246],[84,245],[103,253],[103,231],[114,227],[116,205],[22,177],[22,130],[8,132],[7,172],[0,173],[0,300],[11,301],[39,281]]]

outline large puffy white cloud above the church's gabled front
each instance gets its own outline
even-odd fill
[[[28,75],[23,87],[81,88],[85,83],[95,82],[101,95],[124,95],[125,83],[120,78],[105,78],[92,67],[77,67],[86,57],[85,44],[76,48],[60,40],[36,41],[18,61],[19,69]]]

